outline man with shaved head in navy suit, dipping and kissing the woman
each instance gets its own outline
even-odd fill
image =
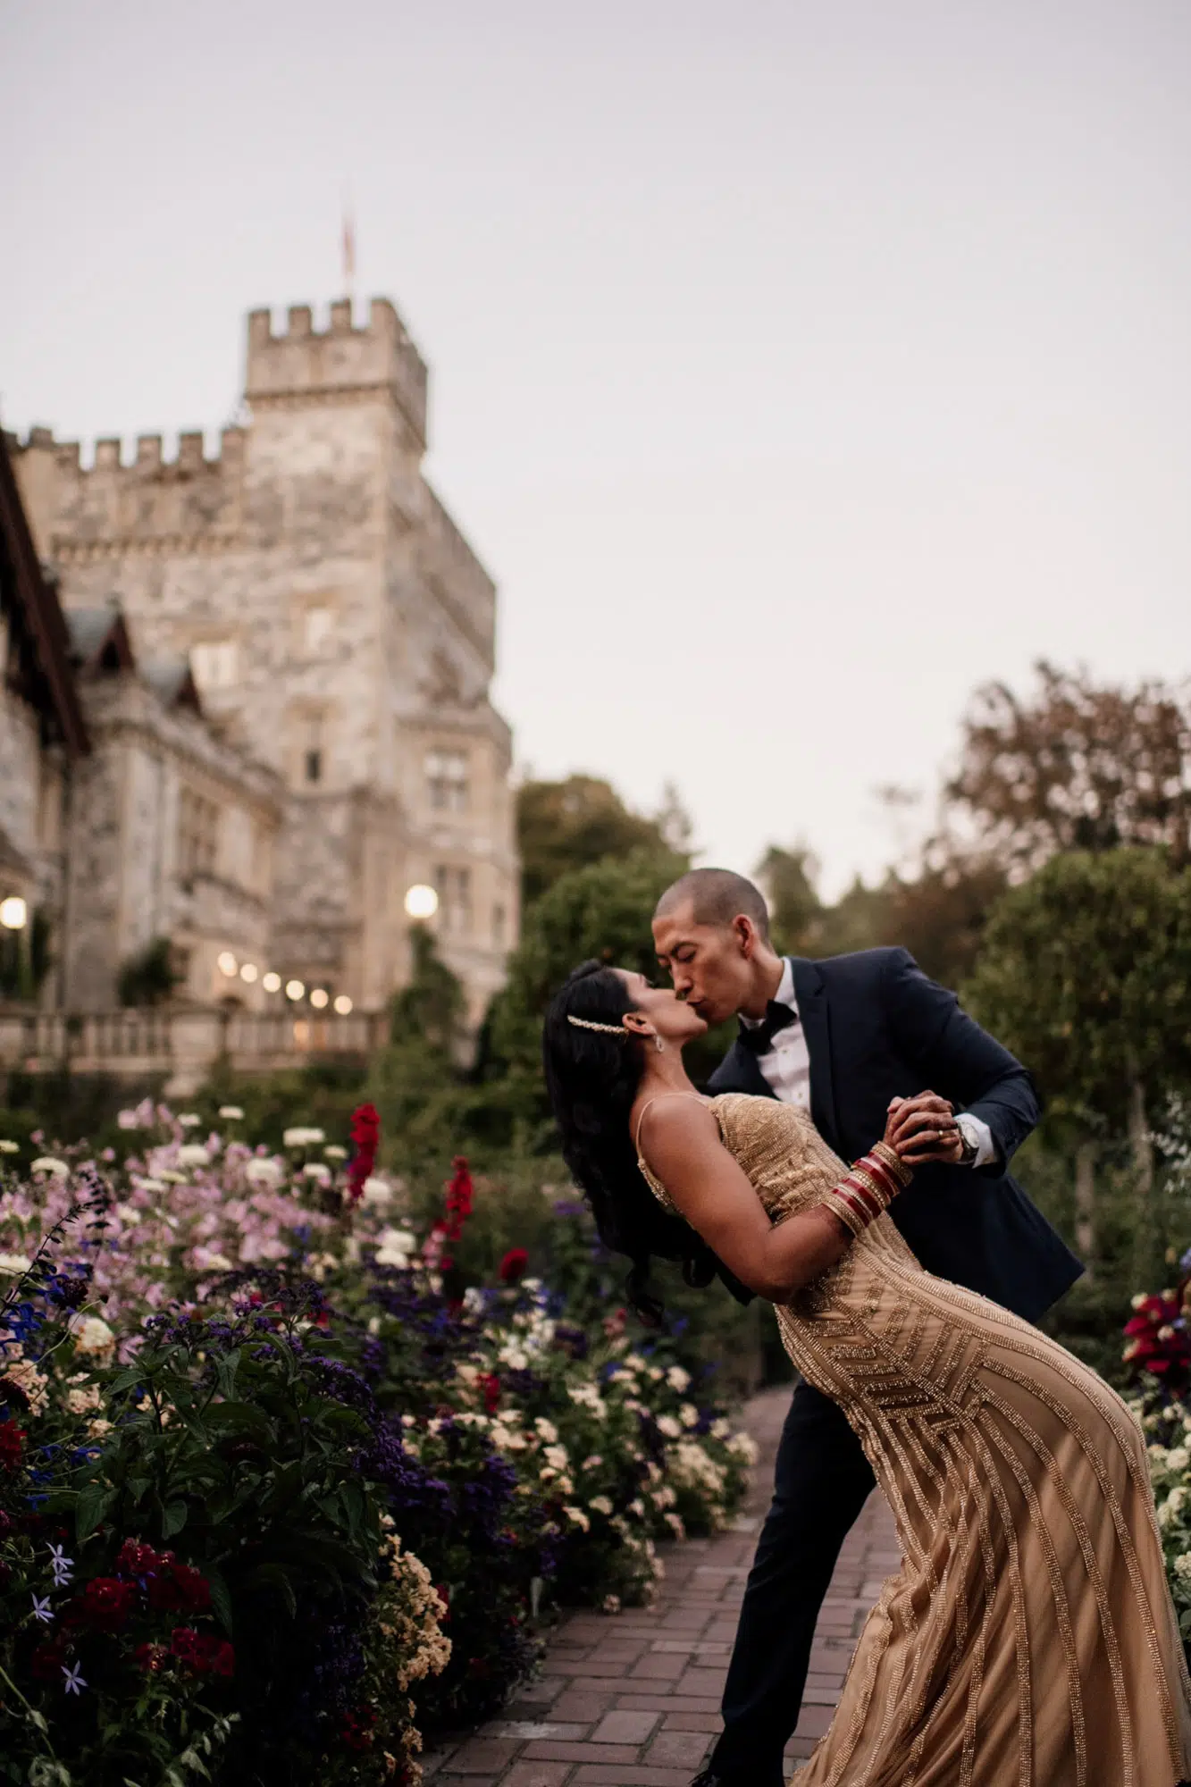
[[[1039,1115],[1028,1072],[908,951],[778,956],[765,901],[726,868],[694,868],[667,888],[653,936],[680,999],[708,1024],[733,1013],[740,1020],[712,1092],[799,1104],[851,1162],[882,1135],[892,1104],[930,1088],[937,1140],[891,1210],[926,1271],[1026,1321],[1080,1276],[1080,1262],[1007,1172]],[[730,1274],[724,1281],[748,1301]],[[724,1732],[692,1787],[781,1787],[819,1608],[873,1483],[837,1405],[799,1383],[740,1608]]]

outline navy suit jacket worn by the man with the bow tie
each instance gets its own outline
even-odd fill
[[[891,1215],[926,1267],[1037,1321],[1084,1267],[1007,1172],[1039,1119],[1028,1072],[928,979],[907,949],[862,949],[794,963],[794,997],[810,1051],[810,1115],[842,1160],[885,1131],[892,1097],[939,1092],[992,1131],[991,1167],[919,1167]],[[710,1092],[773,1097],[756,1056],[735,1042]],[[724,1276],[728,1283],[728,1276]],[[740,1287],[730,1283],[740,1296]]]

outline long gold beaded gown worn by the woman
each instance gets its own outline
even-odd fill
[[[789,1104],[740,1092],[710,1104],[774,1222],[844,1176]],[[1028,1322],[925,1272],[887,1215],[778,1324],[857,1431],[903,1551],[798,1787],[1191,1776],[1191,1685],[1146,1447],[1114,1390]]]

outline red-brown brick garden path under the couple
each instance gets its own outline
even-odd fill
[[[424,1758],[435,1787],[688,1787],[719,1732],[719,1696],[756,1542],[789,1390],[755,1397],[744,1424],[762,1447],[733,1531],[665,1549],[651,1608],[570,1614],[545,1667],[504,1717]],[[826,1730],[860,1623],[898,1564],[892,1519],[873,1496],[823,1607],[794,1764]]]

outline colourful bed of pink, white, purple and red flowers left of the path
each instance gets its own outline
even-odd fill
[[[672,1335],[522,1249],[460,1283],[463,1162],[415,1233],[367,1110],[351,1160],[122,1122],[0,1158],[0,1780],[413,1782],[551,1605],[646,1601],[731,1515],[751,1444]]]

